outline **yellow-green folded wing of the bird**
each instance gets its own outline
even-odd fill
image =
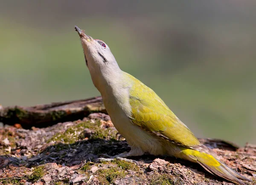
[[[127,75],[133,83],[130,88],[130,105],[131,121],[134,124],[152,134],[169,139],[177,145],[185,147],[201,145],[189,128],[175,116],[151,88],[133,76]]]

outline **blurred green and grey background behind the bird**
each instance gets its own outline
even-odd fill
[[[197,137],[256,144],[256,1],[0,0],[0,104],[99,95],[77,25]]]

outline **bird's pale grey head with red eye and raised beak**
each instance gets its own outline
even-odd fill
[[[75,26],[75,29],[80,36],[86,65],[89,70],[90,68],[99,68],[102,70],[103,68],[112,68],[117,65],[115,57],[106,43],[86,35],[77,26]]]

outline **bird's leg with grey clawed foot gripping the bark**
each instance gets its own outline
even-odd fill
[[[113,161],[114,159],[120,160],[120,161],[127,161],[127,162],[133,162],[136,165],[138,165],[137,161],[132,160],[132,159],[126,159],[125,157],[131,157],[131,156],[142,156],[144,152],[141,150],[141,148],[131,148],[129,152],[124,152],[122,154],[115,155],[113,157],[107,155],[107,154],[101,154],[100,156],[108,157],[108,158],[103,158],[100,157],[96,159],[96,162],[102,162],[102,161]]]

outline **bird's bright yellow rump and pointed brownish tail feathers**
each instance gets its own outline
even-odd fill
[[[245,185],[244,182],[242,182],[241,180],[253,182],[252,180],[247,179],[244,176],[236,173],[236,171],[233,171],[223,162],[215,159],[215,157],[210,154],[195,151],[193,149],[184,149],[181,151],[181,153],[183,154],[184,158],[193,162],[198,162],[201,166],[204,167],[204,169],[206,169],[211,174],[220,176],[239,185]]]

